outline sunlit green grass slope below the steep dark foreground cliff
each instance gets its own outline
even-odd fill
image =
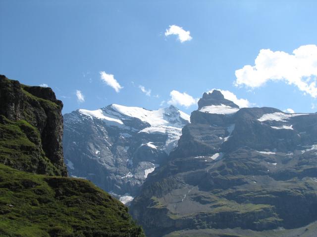
[[[127,207],[90,181],[0,164],[1,237],[143,237]]]

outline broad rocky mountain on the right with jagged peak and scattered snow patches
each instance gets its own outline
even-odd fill
[[[317,114],[239,109],[218,92],[203,97],[168,162],[132,201],[146,233],[316,221]]]

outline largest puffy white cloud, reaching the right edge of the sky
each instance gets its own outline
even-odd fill
[[[317,97],[317,45],[303,45],[292,54],[261,49],[255,65],[235,71],[235,85],[259,87],[265,82],[282,80],[299,90]]]

